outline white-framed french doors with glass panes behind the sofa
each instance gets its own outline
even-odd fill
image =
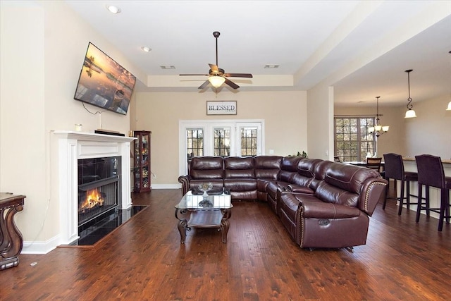
[[[192,156],[264,154],[263,120],[179,121],[179,173]]]

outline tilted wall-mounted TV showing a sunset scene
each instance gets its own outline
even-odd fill
[[[136,77],[89,42],[74,99],[127,114]]]

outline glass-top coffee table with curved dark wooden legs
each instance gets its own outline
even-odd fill
[[[185,243],[186,231],[191,228],[219,228],[223,233],[222,241],[226,243],[232,207],[230,195],[203,196],[188,191],[175,205],[180,242]]]

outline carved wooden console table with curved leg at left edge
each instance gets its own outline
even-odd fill
[[[0,270],[19,264],[23,238],[14,223],[14,215],[23,210],[24,199],[25,195],[0,192]]]

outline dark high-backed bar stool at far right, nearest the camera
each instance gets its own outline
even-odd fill
[[[422,154],[415,156],[416,168],[418,168],[418,195],[422,195],[422,187],[426,185],[426,201],[423,203],[419,197],[419,205],[416,209],[416,222],[420,219],[421,210],[426,210],[440,214],[438,219],[438,231],[442,231],[443,219],[450,223],[450,190],[451,177],[445,177],[442,159],[440,156]],[[429,186],[440,189],[440,208],[431,208],[429,205]]]

